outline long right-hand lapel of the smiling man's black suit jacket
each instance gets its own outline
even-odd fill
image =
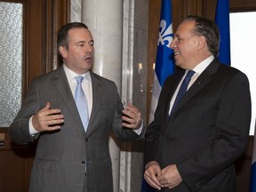
[[[196,82],[192,84],[192,86],[188,89],[188,92],[185,93],[183,98],[178,103],[177,107],[173,110],[172,114],[179,110],[179,108],[181,108],[186,102],[188,102],[188,100],[191,100],[191,98],[197,92],[200,92],[200,90],[202,90],[204,86],[212,80],[212,74],[217,72],[219,66],[220,62],[218,60],[212,60],[211,64],[207,68],[205,68],[204,72],[200,76],[198,76]]]

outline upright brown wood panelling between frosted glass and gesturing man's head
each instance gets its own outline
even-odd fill
[[[27,20],[27,76],[24,92],[30,81],[60,66],[57,54],[57,33],[69,21],[70,0],[30,0]]]

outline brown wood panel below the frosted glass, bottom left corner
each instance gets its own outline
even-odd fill
[[[36,145],[14,144],[7,129],[0,129],[0,134],[4,134],[0,147],[0,191],[26,192]]]

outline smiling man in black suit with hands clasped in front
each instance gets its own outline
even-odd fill
[[[190,16],[171,48],[181,69],[164,83],[145,135],[145,180],[173,192],[235,192],[234,163],[247,146],[251,96],[247,77],[220,64],[219,28]],[[188,71],[195,73],[176,107]],[[174,106],[174,108],[173,108]]]

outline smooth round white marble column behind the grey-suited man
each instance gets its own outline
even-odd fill
[[[76,4],[74,9],[78,11],[79,5]],[[91,30],[94,39],[95,53],[92,71],[114,81],[118,92],[121,93],[123,1],[82,0],[81,9],[81,21]],[[76,17],[77,19],[79,20],[79,16]],[[114,191],[116,192],[119,191],[119,145],[119,141],[111,135],[109,149]]]

